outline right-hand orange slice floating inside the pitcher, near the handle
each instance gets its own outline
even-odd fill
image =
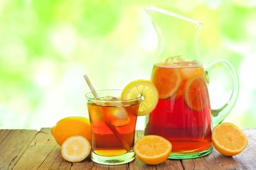
[[[186,105],[193,111],[202,111],[210,104],[206,78],[201,74],[189,78],[183,91]]]

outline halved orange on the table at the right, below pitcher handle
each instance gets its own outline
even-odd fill
[[[234,156],[247,147],[247,137],[232,123],[220,123],[212,133],[213,146],[220,154]]]

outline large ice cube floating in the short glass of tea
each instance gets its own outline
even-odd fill
[[[102,107],[102,109],[104,109],[103,112],[105,112],[105,116],[107,117],[108,122],[112,123],[114,127],[120,127],[129,124],[129,115],[124,106]]]

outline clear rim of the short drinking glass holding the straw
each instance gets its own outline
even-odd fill
[[[121,92],[122,92],[122,89],[102,89],[102,90],[96,90],[96,92],[101,92],[101,91],[120,91],[120,94],[119,96],[113,96],[113,97],[120,97],[121,96]],[[89,95],[92,95],[92,97],[90,97]],[[105,101],[105,100],[102,100],[100,98],[95,98],[95,96],[93,96],[93,93],[92,91],[90,92],[87,92],[85,94],[85,97],[87,98],[87,101],[97,101],[97,102],[100,102],[100,103],[120,103],[120,102],[131,102],[131,101],[141,101],[142,99],[142,96],[138,96],[137,98],[130,98],[130,99],[125,99],[125,100],[121,100],[120,101]],[[99,97],[103,97],[103,96],[99,96]]]

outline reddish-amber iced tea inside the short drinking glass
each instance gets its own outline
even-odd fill
[[[139,100],[87,103],[92,128],[92,152],[105,157],[125,154],[134,146]]]

